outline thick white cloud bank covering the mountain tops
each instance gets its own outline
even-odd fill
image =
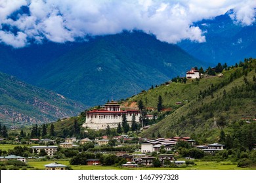
[[[20,48],[30,42],[75,41],[133,29],[169,43],[204,42],[193,22],[231,8],[234,22],[255,22],[255,0],[0,0],[0,42]]]

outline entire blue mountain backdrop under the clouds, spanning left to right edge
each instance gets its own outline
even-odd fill
[[[142,31],[123,31],[18,49],[0,44],[1,121],[53,122],[185,76],[191,67],[255,57],[256,24],[240,25],[231,15],[194,23],[204,32],[202,43],[168,44]]]

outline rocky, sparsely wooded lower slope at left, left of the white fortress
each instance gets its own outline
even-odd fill
[[[54,122],[77,116],[85,106],[50,90],[0,73],[0,122],[7,125]]]

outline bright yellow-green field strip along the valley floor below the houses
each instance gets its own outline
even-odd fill
[[[53,163],[54,161],[33,161],[29,160],[28,165],[34,167],[35,169],[45,169],[44,165]],[[63,165],[70,165],[68,161],[58,161]],[[154,168],[154,167],[138,167],[138,168],[123,168],[114,166],[95,166],[95,165],[71,165],[74,170],[256,170],[254,168],[240,168],[231,161],[195,161],[196,165],[188,167],[175,167],[175,168]]]

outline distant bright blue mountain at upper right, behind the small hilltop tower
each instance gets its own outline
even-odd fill
[[[211,63],[234,65],[244,58],[255,58],[256,22],[247,26],[234,22],[230,18],[233,13],[229,10],[213,19],[194,23],[202,29],[206,42],[185,40],[178,45],[195,58]]]

